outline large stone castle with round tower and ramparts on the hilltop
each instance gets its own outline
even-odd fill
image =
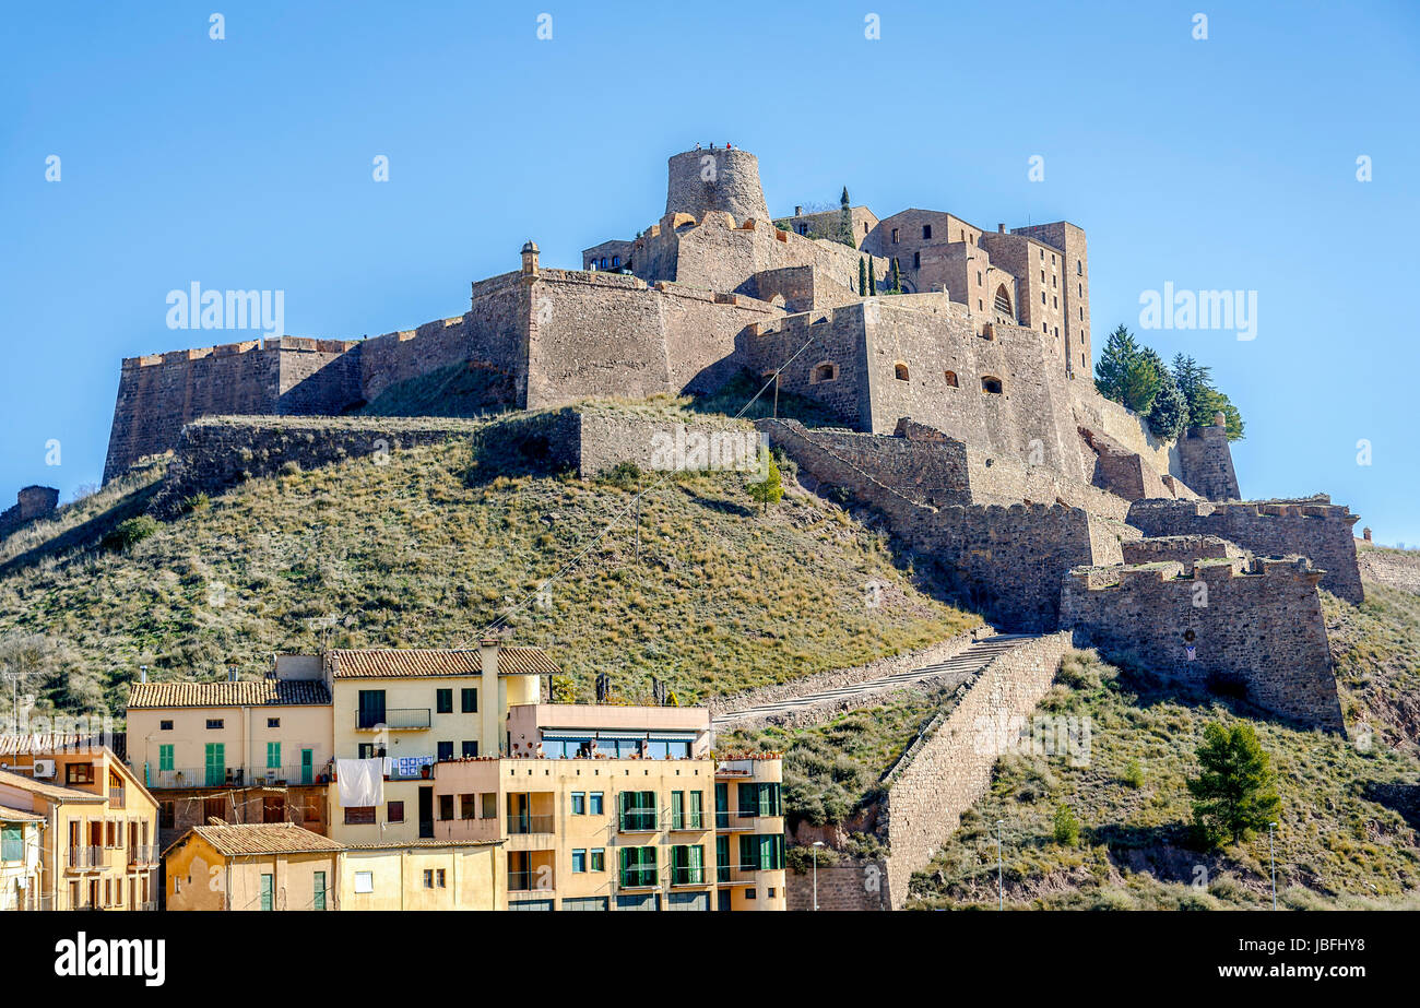
[[[1082,229],[866,207],[775,221],[751,153],[696,149],[670,158],[659,221],[582,267],[545,268],[528,241],[469,311],[415,329],[126,359],[105,481],[202,417],[389,413],[375,407],[450,371],[479,379],[470,406],[487,410],[714,392],[747,372],[841,424],[758,422],[801,481],[876,510],[995,622],[1342,730],[1318,586],[1360,601],[1356,515],[1325,497],[1244,503],[1221,419],[1163,443],[1095,392]],[[878,290],[862,290],[869,267]],[[645,463],[645,437],[577,430],[582,460]]]

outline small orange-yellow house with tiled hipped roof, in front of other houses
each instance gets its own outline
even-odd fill
[[[163,852],[169,910],[335,910],[341,845],[290,822],[193,826]]]

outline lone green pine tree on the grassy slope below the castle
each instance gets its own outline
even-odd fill
[[[1193,822],[1198,839],[1221,846],[1224,840],[1235,843],[1267,829],[1281,811],[1281,799],[1277,775],[1257,741],[1257,731],[1247,723],[1234,724],[1231,730],[1214,723],[1204,728],[1203,740],[1198,777],[1187,782],[1196,799]]]

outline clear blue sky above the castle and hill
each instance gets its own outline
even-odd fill
[[[121,358],[248,335],[169,331],[170,290],[281,290],[293,335],[456,315],[525,239],[577,267],[659,217],[670,153],[733,141],[774,213],[846,185],[880,216],[1081,224],[1096,349],[1164,283],[1257,291],[1252,341],[1140,335],[1242,410],[1244,495],[1328,491],[1420,544],[1417,98],[1406,1],[27,4],[0,38],[0,500],[98,480]]]

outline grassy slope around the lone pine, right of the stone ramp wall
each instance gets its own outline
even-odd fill
[[[1091,718],[1085,765],[1032,755],[1000,760],[990,794],[914,876],[914,907],[995,906],[997,819],[1004,822],[1011,907],[1271,906],[1265,833],[1220,852],[1190,846],[1184,781],[1197,772],[1203,728],[1241,711],[1120,672],[1093,652],[1075,652],[1038,713]],[[1271,721],[1254,724],[1282,798],[1281,900],[1292,907],[1420,906],[1414,758],[1380,745],[1363,751],[1353,741]],[[1393,796],[1396,791],[1410,795],[1409,806]],[[1081,823],[1078,846],[1054,839],[1062,804]]]

